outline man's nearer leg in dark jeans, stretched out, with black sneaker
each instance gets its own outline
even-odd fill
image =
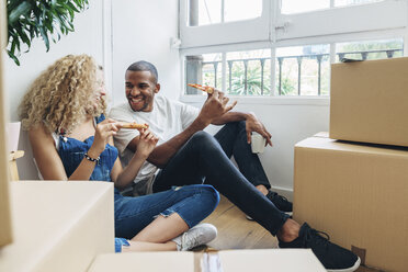
[[[272,235],[281,248],[310,248],[326,269],[354,271],[360,259],[351,251],[331,243],[306,223],[301,227],[279,211],[231,163],[218,141],[205,132],[194,134],[171,158],[154,183],[154,191],[171,185],[205,182],[227,196]]]

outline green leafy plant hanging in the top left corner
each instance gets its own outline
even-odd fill
[[[73,32],[75,13],[83,11],[88,0],[7,0],[9,46],[8,54],[16,65],[22,45],[30,50],[35,37],[42,37],[47,52],[49,39]]]

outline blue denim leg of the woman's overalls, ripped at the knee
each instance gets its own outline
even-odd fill
[[[115,236],[132,239],[158,215],[173,213],[189,228],[207,217],[218,205],[219,194],[212,185],[171,188],[168,191],[137,197],[121,195],[115,189]]]

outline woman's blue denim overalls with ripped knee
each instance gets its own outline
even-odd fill
[[[95,123],[105,120],[104,115]],[[59,135],[58,154],[67,177],[70,177],[83,159],[83,155],[93,144],[93,136],[81,141]],[[117,149],[106,145],[100,160],[90,177],[91,181],[111,181],[111,170],[117,158]],[[159,214],[167,217],[178,213],[193,227],[207,217],[218,205],[219,194],[212,185],[189,185],[138,197],[123,196],[114,189],[115,236],[132,239],[149,225]],[[121,251],[125,239],[115,239],[115,250]]]

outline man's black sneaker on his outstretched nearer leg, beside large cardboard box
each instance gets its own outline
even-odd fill
[[[329,239],[327,234],[313,229],[305,223],[295,240],[279,241],[279,247],[310,248],[327,271],[352,272],[356,270],[360,267],[360,258],[350,250],[330,242]]]

